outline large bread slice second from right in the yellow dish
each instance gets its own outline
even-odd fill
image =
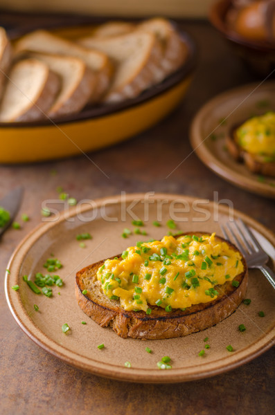
[[[152,33],[134,30],[112,38],[85,37],[79,42],[87,48],[95,48],[106,53],[116,66],[113,82],[104,98],[105,102],[134,98],[156,83],[156,73],[161,71],[161,48]]]

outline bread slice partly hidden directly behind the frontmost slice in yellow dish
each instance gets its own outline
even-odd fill
[[[48,110],[48,116],[56,118],[78,113],[89,102],[96,88],[96,75],[90,71],[85,62],[78,57],[48,55],[46,53],[29,53],[60,76],[60,92]]]

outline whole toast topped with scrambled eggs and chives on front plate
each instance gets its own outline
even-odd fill
[[[122,338],[177,338],[231,315],[245,297],[247,277],[235,246],[196,232],[138,243],[83,268],[76,298],[92,320]]]

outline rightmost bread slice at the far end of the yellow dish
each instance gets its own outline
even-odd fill
[[[162,46],[161,68],[164,76],[170,75],[184,63],[188,48],[170,21],[156,17],[143,21],[138,28],[153,33],[159,39]]]

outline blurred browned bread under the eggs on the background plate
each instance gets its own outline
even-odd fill
[[[245,151],[236,141],[236,130],[240,125],[233,127],[226,138],[227,149],[236,161],[244,162],[246,167],[256,174],[275,177],[275,162],[267,161],[265,156],[251,154]]]

